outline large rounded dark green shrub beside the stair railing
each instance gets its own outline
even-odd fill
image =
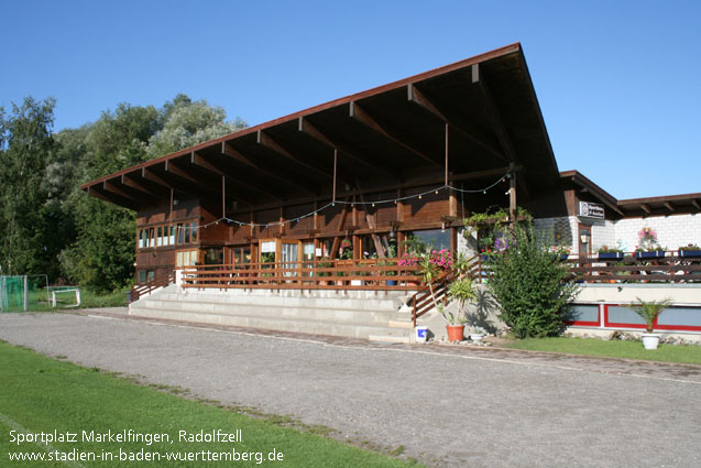
[[[488,283],[500,304],[501,319],[518,338],[559,335],[562,314],[577,296],[578,285],[532,226],[516,227],[507,236],[510,247],[493,255]]]

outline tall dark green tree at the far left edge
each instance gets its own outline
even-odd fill
[[[55,156],[55,100],[28,97],[0,112],[0,268],[3,274],[51,273],[56,268],[59,216],[45,183]]]

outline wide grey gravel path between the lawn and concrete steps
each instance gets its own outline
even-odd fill
[[[403,445],[436,467],[699,467],[701,367],[377,345],[100,315],[0,314],[0,339]]]

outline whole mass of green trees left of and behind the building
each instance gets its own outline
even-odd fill
[[[245,127],[177,95],[162,108],[120,104],[92,123],[52,133],[53,99],[0,108],[0,266],[97,291],[133,277],[134,213],[80,185]]]

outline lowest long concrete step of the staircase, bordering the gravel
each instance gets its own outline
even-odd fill
[[[353,338],[369,339],[371,336],[390,337],[387,339],[409,339],[409,330],[401,328],[390,328],[387,326],[373,326],[340,323],[333,320],[289,318],[289,317],[264,317],[264,316],[245,316],[219,313],[191,313],[183,311],[169,311],[158,308],[132,308],[129,315],[161,318],[171,320],[184,320],[201,324],[231,325],[249,328],[262,328],[282,331],[296,331],[315,335],[332,335],[347,336]],[[397,341],[408,342],[408,341]]]

